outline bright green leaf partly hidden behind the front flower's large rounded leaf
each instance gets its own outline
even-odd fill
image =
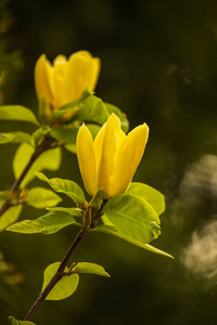
[[[165,210],[164,195],[146,184],[132,182],[127,190],[127,193],[145,199],[158,216]]]

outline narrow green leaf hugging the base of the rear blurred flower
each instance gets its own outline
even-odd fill
[[[88,90],[88,88],[85,89],[85,91],[82,92],[81,96],[72,102],[68,103],[62,107],[60,107],[59,109],[53,110],[53,116],[55,118],[55,120],[60,117],[62,117],[64,114],[66,113],[72,113],[72,112],[77,112],[77,109],[79,108],[79,106],[85,102],[85,100],[87,100],[88,98],[90,98],[92,95],[92,93]]]

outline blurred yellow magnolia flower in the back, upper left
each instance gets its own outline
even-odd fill
[[[52,109],[80,98],[86,87],[93,91],[100,73],[100,58],[87,51],[72,54],[67,61],[59,55],[53,65],[42,54],[35,67],[37,96],[44,96]]]

